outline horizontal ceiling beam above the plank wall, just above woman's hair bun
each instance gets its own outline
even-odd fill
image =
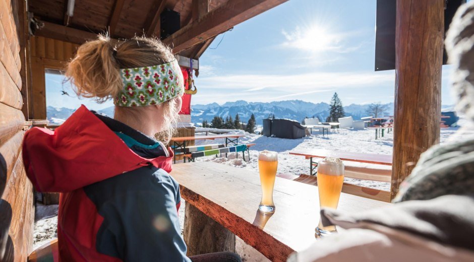
[[[97,38],[96,33],[86,32],[76,28],[66,27],[49,22],[43,23],[44,27],[36,30],[36,36],[43,36],[75,44],[83,44],[87,40],[93,40]]]

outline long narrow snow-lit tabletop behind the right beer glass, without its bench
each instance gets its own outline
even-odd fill
[[[316,166],[313,165],[313,158],[338,157],[340,160],[362,162],[379,165],[392,165],[391,155],[356,153],[332,151],[326,149],[305,149],[289,152],[290,155],[304,156],[310,160],[310,175],[313,175]]]

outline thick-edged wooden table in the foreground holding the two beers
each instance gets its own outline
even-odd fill
[[[315,241],[320,215],[314,185],[276,177],[276,211],[265,215],[258,211],[261,186],[256,171],[198,162],[174,165],[171,176],[180,183],[187,205],[193,205],[272,261],[286,261],[291,252]],[[341,193],[338,209],[361,212],[388,205]]]

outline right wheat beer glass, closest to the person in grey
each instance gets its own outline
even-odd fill
[[[319,161],[317,179],[320,209],[336,209],[344,182],[344,163],[335,157],[326,157]],[[334,232],[336,232],[335,226],[324,227],[320,219],[315,236],[321,237]]]

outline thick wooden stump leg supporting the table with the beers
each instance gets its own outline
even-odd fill
[[[189,203],[185,207],[184,239],[188,256],[235,252],[235,235]]]

